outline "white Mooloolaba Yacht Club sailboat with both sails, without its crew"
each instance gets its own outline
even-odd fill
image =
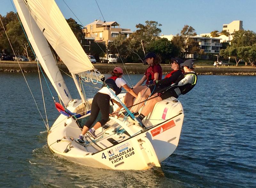
[[[184,118],[180,101],[171,97],[158,102],[143,122],[146,129],[131,118],[113,116],[96,130],[97,139],[85,135],[86,142],[78,143],[75,138],[90,116],[92,99],[86,98],[77,78],[102,84],[104,75],[94,68],[54,0],[14,0],[14,4],[28,40],[62,103],[56,103],[63,113],[48,132],[50,150],[68,161],[96,168],[161,167],[160,163],[179,143]],[[48,42],[70,71],[80,99],[71,97]],[[122,101],[124,94],[118,97]],[[116,104],[111,104],[112,111],[116,108]]]

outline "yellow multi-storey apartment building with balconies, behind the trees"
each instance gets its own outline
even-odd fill
[[[113,41],[119,34],[129,37],[129,34],[132,33],[131,29],[120,28],[120,24],[116,21],[104,23],[102,20],[95,20],[84,27],[85,39],[102,42],[106,46],[108,46],[108,42]]]

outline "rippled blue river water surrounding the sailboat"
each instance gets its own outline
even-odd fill
[[[130,75],[130,82],[141,76]],[[26,78],[43,113],[38,75]],[[78,97],[73,80],[64,78]],[[51,125],[59,113],[43,87]],[[86,91],[93,97],[97,89]],[[0,187],[256,187],[255,96],[256,77],[198,76],[196,87],[179,98],[185,111],[180,142],[162,162],[162,176],[85,167],[54,156],[22,74],[0,72]]]

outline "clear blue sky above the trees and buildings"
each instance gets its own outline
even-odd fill
[[[95,19],[116,21],[121,28],[136,31],[136,24],[146,20],[162,24],[161,34],[178,34],[184,25],[197,34],[222,30],[223,24],[242,20],[243,28],[256,32],[256,0],[56,0],[66,19],[86,26]],[[78,21],[76,17],[81,21]],[[0,14],[15,11],[11,0],[0,0]]]

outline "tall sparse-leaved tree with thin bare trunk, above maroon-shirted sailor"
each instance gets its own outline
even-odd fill
[[[137,41],[141,45],[141,49],[144,53],[144,56],[146,56],[145,47],[149,44],[150,41],[156,40],[161,33],[161,29],[158,28],[159,26],[162,26],[161,24],[158,24],[156,21],[145,21],[145,25],[143,24],[137,24],[135,33],[130,35],[131,40]]]

